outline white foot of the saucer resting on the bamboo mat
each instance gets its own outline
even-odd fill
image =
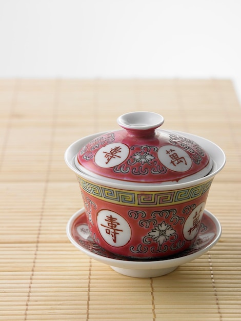
[[[173,272],[177,268],[177,266],[175,266],[175,267],[169,267],[164,269],[141,270],[141,269],[123,269],[123,268],[118,268],[114,266],[110,266],[110,267],[114,271],[118,272],[119,274],[131,276],[131,277],[140,277],[140,278],[163,276]]]

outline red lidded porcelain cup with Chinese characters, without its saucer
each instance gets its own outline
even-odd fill
[[[96,245],[130,259],[175,255],[198,235],[225,154],[207,139],[163,130],[152,112],[120,116],[119,130],[79,139],[65,153]]]

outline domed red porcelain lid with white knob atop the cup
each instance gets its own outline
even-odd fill
[[[135,183],[180,183],[206,176],[212,159],[197,143],[157,129],[164,118],[152,112],[120,116],[123,129],[93,139],[78,152],[76,167],[103,179]]]

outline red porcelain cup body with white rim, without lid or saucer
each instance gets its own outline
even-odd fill
[[[114,254],[140,259],[167,257],[189,248],[203,228],[208,193],[225,164],[224,152],[202,137],[185,133],[212,157],[207,176],[181,184],[130,184],[92,177],[75,167],[78,150],[97,135],[79,139],[65,154],[76,174],[94,241]]]

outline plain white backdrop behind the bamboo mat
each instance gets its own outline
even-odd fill
[[[0,77],[231,78],[241,0],[0,0]]]

